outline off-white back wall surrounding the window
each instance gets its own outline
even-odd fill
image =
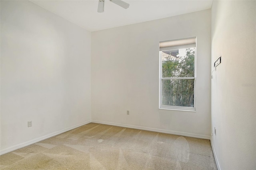
[[[92,32],[92,121],[210,138],[210,12]],[[159,42],[189,37],[197,37],[196,112],[160,110]]]

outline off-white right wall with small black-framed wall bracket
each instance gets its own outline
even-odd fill
[[[212,5],[212,145],[221,170],[256,167],[256,1]]]

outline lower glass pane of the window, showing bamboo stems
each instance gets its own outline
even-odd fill
[[[194,107],[194,79],[162,80],[162,105]]]

